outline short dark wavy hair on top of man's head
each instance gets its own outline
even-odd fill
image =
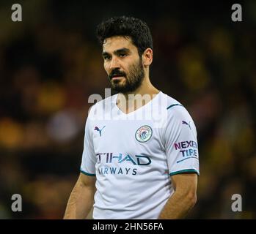
[[[100,45],[104,39],[114,36],[131,37],[139,56],[147,49],[153,49],[153,41],[147,23],[133,17],[119,16],[109,18],[97,26],[97,37]]]

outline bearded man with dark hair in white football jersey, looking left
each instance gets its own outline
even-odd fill
[[[183,218],[197,200],[194,122],[180,102],[150,83],[153,42],[146,23],[110,18],[97,33],[118,94],[89,111],[81,173],[65,219],[85,219],[92,205],[94,219]]]

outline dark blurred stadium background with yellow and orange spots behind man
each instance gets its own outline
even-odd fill
[[[153,83],[197,125],[200,179],[189,219],[256,218],[256,1],[0,3],[0,219],[62,219],[76,182],[90,94],[109,87],[95,27],[133,15],[153,34]],[[23,21],[11,20],[11,6]],[[11,211],[12,194],[23,211]],[[243,211],[231,211],[241,194]]]

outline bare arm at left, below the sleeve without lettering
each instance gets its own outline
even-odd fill
[[[67,202],[64,219],[85,219],[92,208],[95,195],[95,176],[80,173]]]

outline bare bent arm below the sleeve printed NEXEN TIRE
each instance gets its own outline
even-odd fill
[[[197,202],[197,174],[172,176],[172,184],[175,192],[161,211],[159,219],[182,219]]]

